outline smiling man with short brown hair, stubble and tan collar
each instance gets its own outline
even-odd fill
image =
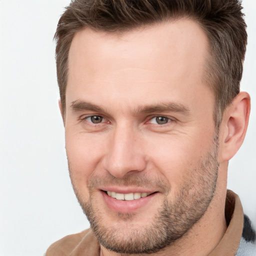
[[[59,107],[91,227],[46,255],[255,255],[226,191],[250,110],[245,27],[237,0],[71,2],[55,34]]]

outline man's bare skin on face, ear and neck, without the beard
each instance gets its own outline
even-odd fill
[[[81,205],[91,202],[100,225],[122,230],[120,241],[131,230],[150,226],[164,201],[175,202],[184,184],[192,183],[191,198],[205,191],[197,189],[195,170],[212,152],[216,133],[214,96],[203,79],[207,49],[205,33],[191,20],[123,34],[84,29],[72,40],[63,114],[70,177]],[[103,119],[95,124],[91,115]],[[207,255],[219,242],[226,229],[227,163],[242,143],[248,115],[249,96],[240,92],[220,125],[218,176],[206,211],[152,255]],[[157,124],[156,116],[167,122]],[[141,205],[117,210],[102,190],[155,193]],[[100,253],[119,255],[103,246]]]

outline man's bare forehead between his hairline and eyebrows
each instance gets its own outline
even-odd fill
[[[207,36],[193,20],[179,19],[124,33],[84,29],[71,42],[66,102],[77,97],[179,99],[205,87]],[[170,94],[168,94],[169,96]],[[87,99],[87,98],[86,98]],[[157,98],[156,98],[157,100]],[[126,102],[127,103],[127,102]],[[147,103],[147,102],[145,102]]]

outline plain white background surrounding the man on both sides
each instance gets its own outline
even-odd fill
[[[43,255],[88,227],[73,194],[58,111],[52,37],[69,0],[0,0],[0,256]],[[228,188],[256,223],[256,0],[243,0],[248,46],[242,90],[252,109]]]

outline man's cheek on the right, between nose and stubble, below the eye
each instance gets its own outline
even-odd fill
[[[158,137],[153,146],[148,145],[148,152],[153,168],[168,180],[172,190],[178,191],[184,182],[192,178],[195,169],[199,167],[198,162],[204,158],[211,143],[210,136],[203,137],[198,133],[168,139]]]

